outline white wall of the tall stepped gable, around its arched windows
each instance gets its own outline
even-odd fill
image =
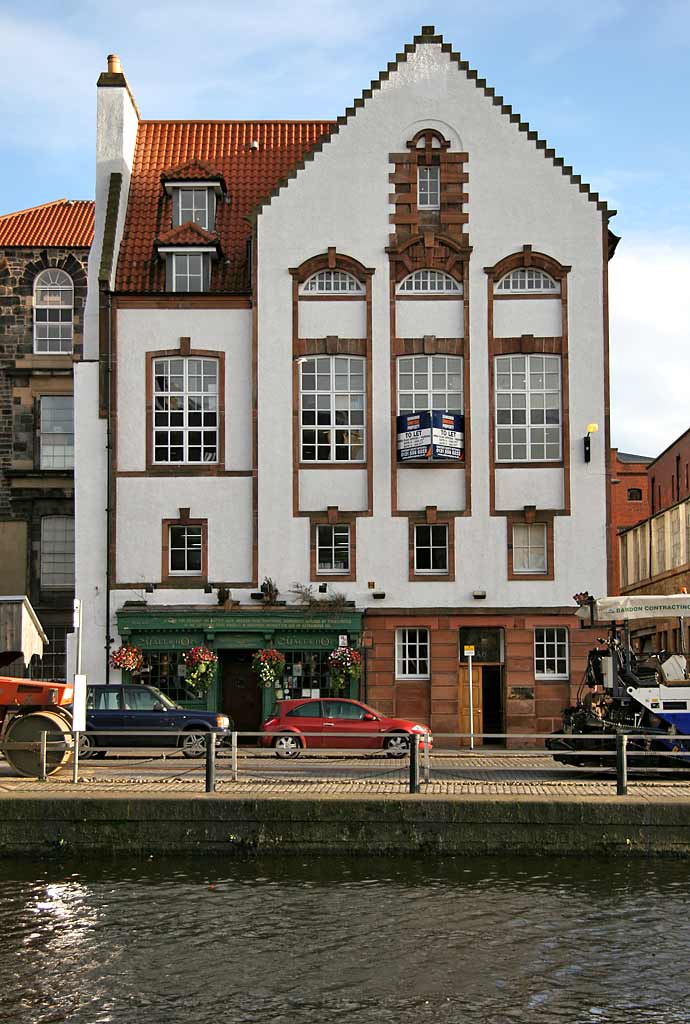
[[[412,585],[406,582],[406,523],[390,517],[390,339],[385,247],[392,207],[388,203],[388,155],[404,150],[411,124],[434,122],[449,125],[470,155],[466,188],[473,247],[468,292],[473,514],[457,520],[457,583]],[[285,387],[291,367],[292,333],[292,279],[288,268],[326,252],[329,246],[336,246],[339,252],[375,268],[372,281],[375,515],[373,519],[358,521],[359,581],[343,584],[342,589],[366,605],[371,598],[366,596],[365,581],[376,580],[389,595],[387,604],[418,607],[442,603],[476,606],[472,590],[480,588],[488,595],[484,608],[521,602],[569,605],[575,590],[604,592],[603,443],[597,444],[595,439],[592,463],[586,466],[580,439],[587,423],[594,421],[602,428],[598,436],[603,441],[602,230],[602,215],[596,206],[544,157],[544,152],[525,133],[501,115],[490,98],[438,46],[419,46],[388,81],[382,82],[355,117],[272,200],[258,221],[259,503],[260,509],[271,509],[282,524],[279,529],[273,528],[267,515],[260,512],[260,575],[275,575],[278,583],[281,579],[299,579],[298,573],[304,572],[306,564],[307,531],[304,523],[291,515],[292,453],[288,424],[292,411],[291,394]],[[525,244],[572,266],[568,288],[573,515],[558,520],[556,543],[563,547],[556,553],[556,580],[523,584],[506,579],[506,522],[488,514],[487,285],[483,268],[519,251]],[[270,301],[262,301],[263,296],[269,296]],[[508,309],[515,305],[505,302],[497,306],[500,304]],[[523,301],[520,309],[526,315],[526,309],[532,305],[542,310],[535,313],[536,317],[551,317],[548,324],[540,326],[532,318],[527,327],[513,318],[510,333],[557,334],[551,300]],[[518,311],[516,315],[523,313]],[[415,330],[423,333],[421,324]],[[276,422],[285,425],[277,435]],[[533,504],[537,495],[551,507],[562,502],[562,483],[558,484],[552,470],[530,471],[530,477],[524,487],[517,483],[519,478],[508,484],[520,490],[519,496],[517,493],[511,496],[511,506]],[[432,477],[425,475],[425,479],[430,483]],[[503,482],[501,486],[504,487]],[[517,498],[526,492],[531,498],[518,503]],[[337,504],[334,494],[335,490],[319,495],[318,507]],[[417,498],[417,502],[420,507],[432,504],[426,496]]]

